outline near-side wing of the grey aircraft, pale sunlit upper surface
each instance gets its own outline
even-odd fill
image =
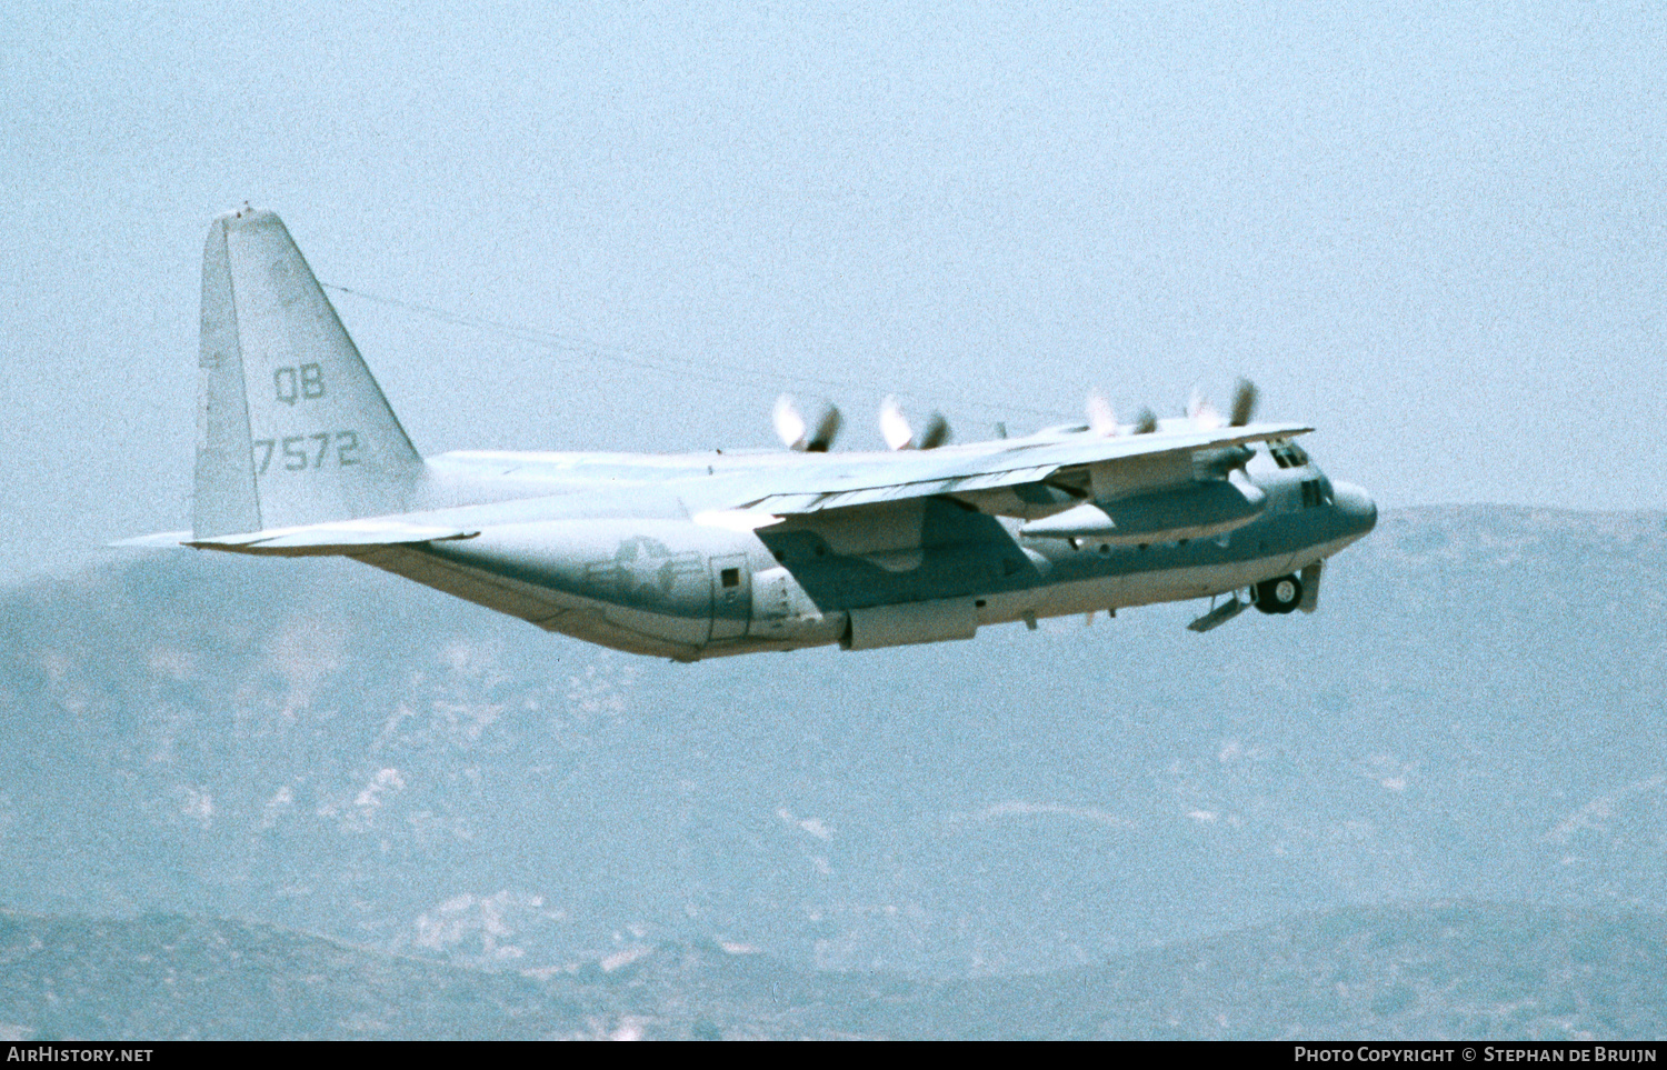
[[[827,453],[820,463],[803,465],[785,478],[780,490],[742,508],[803,515],[900,498],[1022,487],[1062,475],[1090,483],[1095,497],[1140,493],[1190,482],[1192,455],[1199,450],[1289,438],[1310,430],[1302,423],[1252,423],[1149,435],[1014,438],[865,457]]]

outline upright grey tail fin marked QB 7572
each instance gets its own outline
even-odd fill
[[[272,212],[208,228],[198,368],[197,538],[407,510],[422,457]]]

